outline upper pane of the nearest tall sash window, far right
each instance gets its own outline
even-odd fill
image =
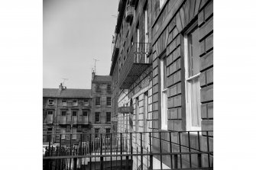
[[[188,36],[189,51],[189,75],[193,76],[199,73],[199,29],[197,28]]]

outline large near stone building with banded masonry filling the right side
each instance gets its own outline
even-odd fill
[[[179,132],[152,133],[151,139],[134,134],[133,148],[142,142],[143,152],[148,146],[153,152],[212,152],[213,1],[120,0],[113,43],[112,121],[118,132]],[[177,158],[154,156],[153,168],[176,161],[179,168],[212,167],[213,154]],[[133,167],[147,169],[147,156],[143,160]]]

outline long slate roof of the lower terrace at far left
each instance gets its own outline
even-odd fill
[[[59,94],[58,88],[43,88],[43,97],[50,98],[92,98],[90,89],[66,88]]]

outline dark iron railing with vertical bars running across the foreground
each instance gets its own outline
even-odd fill
[[[79,143],[48,143],[44,169],[213,169],[212,131],[78,134]],[[70,138],[72,134],[69,134]],[[86,141],[83,136],[86,136]],[[154,167],[154,165],[160,167]]]

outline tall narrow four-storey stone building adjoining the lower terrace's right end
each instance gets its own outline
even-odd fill
[[[98,133],[112,133],[111,98],[112,77],[92,72],[92,138],[99,138]]]

